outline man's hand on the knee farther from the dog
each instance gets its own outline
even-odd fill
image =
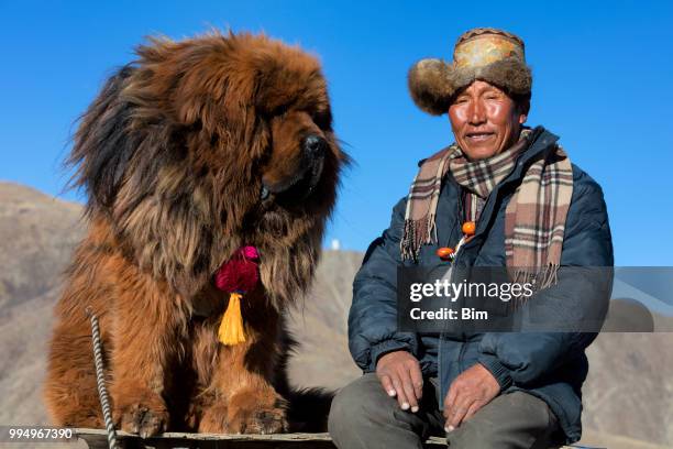
[[[455,377],[444,399],[444,429],[454,430],[500,393],[490,371],[477,363]]]

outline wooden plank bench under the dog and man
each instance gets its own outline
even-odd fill
[[[108,449],[108,435],[102,429],[73,429],[89,449]],[[137,435],[118,431],[123,449],[335,449],[329,434],[220,435],[166,432],[142,439]],[[428,449],[446,448],[443,438],[431,437],[423,445]],[[566,449],[585,446],[564,446]]]

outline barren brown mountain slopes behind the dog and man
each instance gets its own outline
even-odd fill
[[[81,207],[0,183],[0,425],[45,424],[41,382],[62,273],[82,236]],[[351,283],[361,253],[327,251],[291,316],[300,341],[293,382],[338,388],[360,375],[346,344]],[[609,448],[673,446],[673,335],[604,333],[589,348],[583,441]]]

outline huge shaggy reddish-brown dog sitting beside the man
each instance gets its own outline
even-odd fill
[[[306,424],[295,401],[310,401],[285,375],[284,310],[311,280],[347,162],[319,63],[249,34],[152,40],[137,55],[75,135],[90,225],[56,307],[47,408],[58,425],[103,425],[90,306],[122,429]],[[242,245],[258,249],[261,283],[242,300],[246,341],[225,346],[228,295],[212,277]]]

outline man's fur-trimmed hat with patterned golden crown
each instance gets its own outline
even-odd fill
[[[453,96],[475,79],[490,83],[510,96],[530,97],[532,75],[526,65],[523,41],[503,30],[479,28],[463,33],[453,63],[428,58],[409,70],[409,91],[423,111],[441,116]]]

